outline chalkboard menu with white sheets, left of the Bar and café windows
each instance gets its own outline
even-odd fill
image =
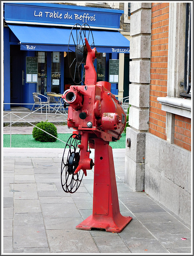
[[[38,83],[38,57],[26,57],[26,83]]]

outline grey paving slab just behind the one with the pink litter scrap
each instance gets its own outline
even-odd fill
[[[188,233],[190,230],[180,222],[144,223],[152,234]]]

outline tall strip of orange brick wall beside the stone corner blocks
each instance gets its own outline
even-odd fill
[[[169,3],[152,3],[149,132],[166,140],[166,112],[157,97],[167,96]]]

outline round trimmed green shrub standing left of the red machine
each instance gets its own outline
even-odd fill
[[[57,128],[54,126],[54,124],[47,121],[48,120],[46,120],[45,122],[41,121],[33,128],[32,136],[35,140],[39,140],[40,142],[55,142],[57,140]],[[56,138],[47,134],[46,132],[43,132],[37,127],[55,136]]]

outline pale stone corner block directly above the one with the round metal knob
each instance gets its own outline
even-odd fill
[[[148,130],[149,110],[142,110],[131,106],[129,108],[129,125],[141,131]]]

